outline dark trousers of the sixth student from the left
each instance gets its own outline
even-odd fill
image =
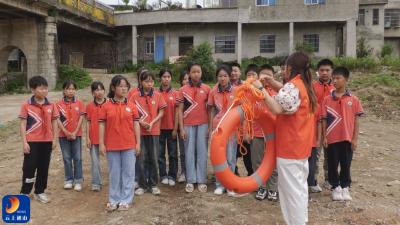
[[[165,158],[165,144],[168,149],[168,174]],[[172,130],[161,130],[160,133],[160,151],[158,157],[158,164],[160,168],[160,178],[168,178],[176,180],[178,171],[178,151],[177,140],[172,138]]]

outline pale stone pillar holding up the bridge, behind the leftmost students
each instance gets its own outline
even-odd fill
[[[57,22],[54,17],[46,17],[39,28],[39,74],[49,83],[49,88],[56,86],[57,79]]]

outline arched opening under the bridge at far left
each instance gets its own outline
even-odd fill
[[[0,50],[0,93],[26,91],[27,61],[25,53],[16,46]]]

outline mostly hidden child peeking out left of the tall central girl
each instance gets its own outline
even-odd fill
[[[188,83],[189,83],[189,74],[187,73],[186,70],[182,71],[181,75],[179,76],[179,84],[181,85],[181,87],[183,87]],[[178,95],[179,95],[179,91],[178,91]],[[177,103],[178,103],[178,107],[179,107],[179,102],[177,102]],[[176,114],[178,117],[178,134],[181,133],[181,131],[180,131],[181,125],[179,124],[180,123],[179,113],[180,113],[180,111],[178,108],[176,111]],[[178,138],[179,138],[179,160],[180,160],[180,164],[181,164],[181,172],[178,177],[178,182],[183,183],[183,182],[186,182],[185,140],[181,137],[181,135],[178,135]]]

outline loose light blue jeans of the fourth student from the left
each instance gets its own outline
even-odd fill
[[[111,204],[130,204],[134,196],[135,150],[107,152],[109,173],[108,201]]]

